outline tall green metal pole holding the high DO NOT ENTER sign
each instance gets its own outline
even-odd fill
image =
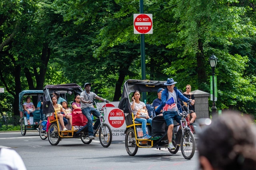
[[[140,14],[144,13],[143,0],[140,0]],[[146,79],[145,35],[140,34],[141,78]],[[146,103],[146,92],[142,92],[142,101]]]

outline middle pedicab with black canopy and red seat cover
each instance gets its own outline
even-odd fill
[[[47,132],[50,144],[57,145],[62,138],[81,138],[84,144],[90,144],[93,139],[89,138],[87,127],[88,119],[82,114],[81,109],[74,109],[72,111],[72,126],[70,123],[68,123],[65,126],[68,130],[63,131],[51,100],[52,93],[57,93],[60,94],[66,101],[73,101],[75,95],[80,95],[82,88],[74,83],[62,85],[46,85],[43,91],[43,113],[46,114],[46,117],[48,117],[48,121],[50,123]],[[94,101],[94,103],[96,104],[96,101]],[[106,106],[106,103],[104,106]],[[101,115],[98,118],[100,120],[100,125],[94,132],[94,136],[96,136],[98,132],[100,143],[103,147],[108,147],[112,142],[112,131],[110,127],[104,123],[106,107],[98,108],[97,105],[95,107],[98,109]],[[94,119],[93,121],[98,119]],[[81,128],[75,130],[74,126],[80,126]]]

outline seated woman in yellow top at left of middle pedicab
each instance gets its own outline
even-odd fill
[[[54,110],[56,111],[57,113],[57,117],[60,121],[60,125],[62,127],[62,131],[66,131],[68,130],[65,126],[64,126],[64,121],[63,121],[63,117],[66,117],[67,116],[67,113],[66,111],[63,109],[62,105],[60,104],[57,104],[57,98],[55,96],[51,96],[51,99],[52,99],[52,105],[54,107]],[[62,114],[61,112],[63,112],[64,114]],[[72,117],[72,115],[71,115]],[[72,118],[71,118],[71,123],[72,123]],[[48,129],[48,128],[47,128]]]

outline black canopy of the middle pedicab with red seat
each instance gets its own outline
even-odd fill
[[[61,84],[61,85],[46,85],[43,89],[44,97],[43,97],[43,113],[52,113],[54,112],[54,107],[52,105],[51,95],[52,93],[68,93],[70,95],[74,94],[77,95],[82,93],[82,88],[75,84]]]

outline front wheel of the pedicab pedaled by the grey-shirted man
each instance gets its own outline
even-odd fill
[[[112,142],[112,131],[111,131],[111,128],[106,123],[102,124],[102,128],[100,127],[99,140],[100,140],[100,144],[105,148],[110,146]]]

